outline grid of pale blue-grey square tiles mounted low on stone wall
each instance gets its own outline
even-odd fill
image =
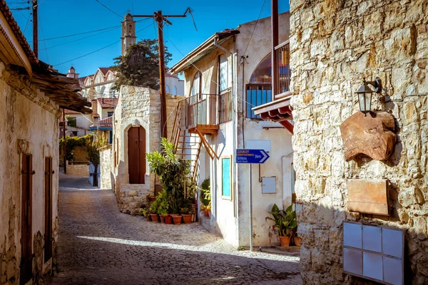
[[[382,284],[404,284],[404,230],[343,223],[343,271]]]

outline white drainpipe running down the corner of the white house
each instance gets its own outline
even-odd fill
[[[233,53],[233,52],[231,52],[231,51],[229,51],[228,49],[226,49],[226,48],[223,48],[223,46],[220,46],[218,43],[217,43],[217,37],[215,37],[214,38],[214,46],[215,47],[217,47],[217,48],[220,48],[222,51],[224,51],[225,53],[228,53],[228,54],[230,54],[230,56],[232,56],[232,64],[231,64],[231,68],[232,68],[232,89],[231,89],[231,92],[232,92],[232,109],[233,109],[233,116],[232,116],[232,125],[233,125],[233,128],[232,128],[232,130],[233,130],[233,155],[232,155],[232,157],[233,157],[233,195],[236,195],[236,193],[237,193],[237,191],[236,191],[236,157],[235,157],[235,155],[236,155],[236,115],[237,115],[237,112],[236,112],[236,106],[237,106],[237,103],[236,103],[236,100],[237,100],[237,97],[236,97],[236,93],[235,93],[235,54]],[[236,196],[235,196],[236,197]],[[233,216],[234,217],[237,217],[237,210],[236,210],[236,203],[237,203],[237,201],[238,201],[238,199],[235,199],[235,202],[233,203]]]

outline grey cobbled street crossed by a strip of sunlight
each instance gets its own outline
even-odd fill
[[[302,284],[298,257],[238,252],[196,223],[146,222],[119,212],[110,190],[70,186],[51,284]]]

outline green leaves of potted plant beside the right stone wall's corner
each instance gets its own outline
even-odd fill
[[[272,214],[272,217],[266,217],[265,219],[270,219],[275,222],[272,226],[275,228],[280,236],[290,237],[295,229],[297,228],[296,212],[292,210],[292,205],[287,207],[287,209],[279,209],[277,204],[273,204],[272,209],[269,214]]]

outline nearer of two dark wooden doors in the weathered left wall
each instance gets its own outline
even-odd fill
[[[32,249],[32,176],[33,165],[31,155],[22,155],[22,197],[21,197],[21,278],[25,284],[33,276]]]

